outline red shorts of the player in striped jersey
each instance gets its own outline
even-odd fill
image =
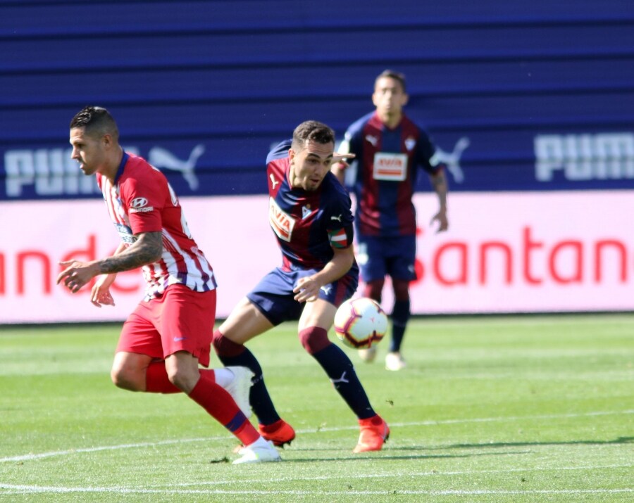
[[[216,321],[216,290],[194,292],[170,285],[160,298],[142,301],[123,324],[117,352],[128,351],[165,359],[187,351],[209,366]]]

